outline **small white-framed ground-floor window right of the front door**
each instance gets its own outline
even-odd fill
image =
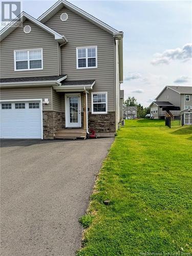
[[[92,93],[92,114],[108,113],[108,93]]]

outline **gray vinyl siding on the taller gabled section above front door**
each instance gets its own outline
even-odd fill
[[[61,22],[61,13],[68,13],[68,20]],[[108,92],[108,111],[115,111],[114,80],[114,38],[88,20],[63,8],[46,25],[65,35],[68,43],[61,47],[61,73],[68,80],[96,79],[93,92]],[[97,46],[98,68],[76,69],[76,48]],[[88,95],[88,107],[91,111],[91,92]]]

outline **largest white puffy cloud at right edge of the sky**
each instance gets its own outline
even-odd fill
[[[192,58],[192,43],[187,43],[182,48],[169,49],[163,53],[156,53],[151,63],[152,65],[168,65],[171,60],[187,61],[190,58]]]

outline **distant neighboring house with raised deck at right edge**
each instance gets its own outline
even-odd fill
[[[191,124],[192,113],[192,87],[166,86],[157,96],[156,101],[150,105],[154,119],[169,115],[180,118],[183,115],[184,124]]]

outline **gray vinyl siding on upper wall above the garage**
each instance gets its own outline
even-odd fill
[[[24,26],[31,32],[25,34]],[[14,50],[42,48],[43,70],[14,71]],[[58,75],[58,44],[54,36],[26,20],[1,42],[1,78]]]

